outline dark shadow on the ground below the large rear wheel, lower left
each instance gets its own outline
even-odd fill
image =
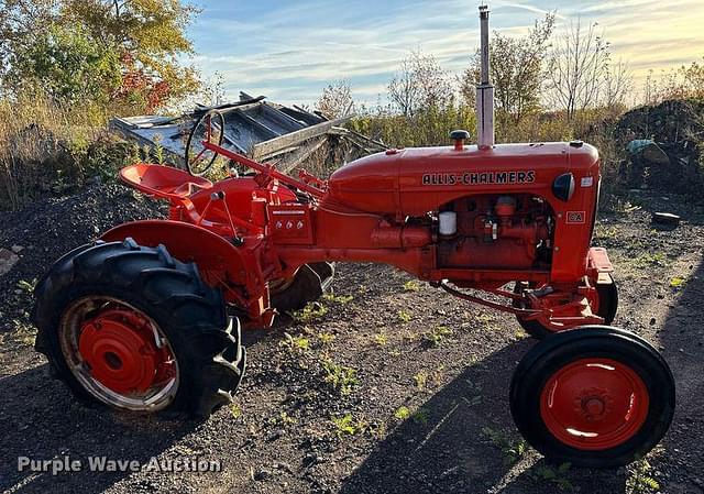
[[[78,404],[48,365],[0,377],[0,492],[99,493],[131,472],[95,472],[89,457],[145,464],[195,429],[194,422],[127,417]],[[19,472],[20,457],[79,460],[81,471]]]

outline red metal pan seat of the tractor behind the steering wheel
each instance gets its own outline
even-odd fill
[[[212,188],[212,182],[183,169],[139,163],[122,168],[120,179],[132,188],[154,197],[180,200],[199,190]]]

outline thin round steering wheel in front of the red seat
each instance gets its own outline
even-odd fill
[[[194,127],[186,142],[185,162],[188,173],[200,177],[208,173],[218,153],[207,149],[204,142],[222,145],[224,139],[224,117],[218,110],[206,112]]]

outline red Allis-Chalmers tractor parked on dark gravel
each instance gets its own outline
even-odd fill
[[[576,141],[494,144],[488,11],[480,13],[476,146],[455,131],[449,147],[389,150],[328,180],[293,178],[228,149],[224,118],[211,110],[190,134],[188,173],[122,169],[125,184],[169,202],[169,218],[119,226],[38,283],[36,348],[55,374],[87,402],[207,417],[242,380],[240,325],[268,328],[316,299],[333,262],[385,263],[512,312],[542,339],[509,400],[548,459],[613,466],[653,448],[672,420],[674,383],[649,343],[607,326],[613,267],[590,248],[598,153]],[[202,178],[218,161],[251,172]]]

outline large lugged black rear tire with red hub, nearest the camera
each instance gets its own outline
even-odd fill
[[[244,374],[239,321],[222,294],[163,245],[81,246],[35,295],[35,348],[86,404],[206,418]]]

